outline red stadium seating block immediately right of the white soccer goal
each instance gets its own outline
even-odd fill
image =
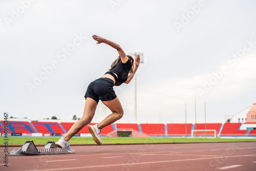
[[[239,130],[241,123],[225,123],[221,136],[245,136],[247,130]]]

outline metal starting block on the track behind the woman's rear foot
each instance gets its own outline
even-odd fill
[[[58,148],[54,141],[46,143],[44,148],[36,148],[33,141],[26,141],[22,148],[14,148],[9,153],[10,156],[28,156],[28,155],[55,155],[55,154],[69,154],[67,149]]]

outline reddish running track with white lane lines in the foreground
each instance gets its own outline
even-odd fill
[[[11,151],[14,147],[9,147]],[[256,170],[256,142],[72,146],[75,154],[8,156],[0,170]]]

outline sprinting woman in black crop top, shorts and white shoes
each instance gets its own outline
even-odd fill
[[[139,55],[134,60],[132,56],[126,55],[122,48],[115,42],[96,35],[92,37],[97,41],[97,44],[103,42],[116,49],[119,57],[112,63],[110,71],[89,84],[86,95],[84,96],[86,98],[86,104],[84,105],[82,118],[75,122],[69,132],[56,142],[57,147],[66,148],[69,153],[75,153],[69,145],[69,140],[84,126],[91,123],[99,100],[111,110],[112,114],[98,124],[89,125],[88,128],[93,136],[93,140],[98,145],[102,145],[100,140],[101,129],[114,123],[123,116],[123,108],[114,92],[113,86],[129,83],[140,65]]]

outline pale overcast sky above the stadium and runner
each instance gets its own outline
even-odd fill
[[[256,103],[255,1],[0,1],[0,118],[82,117],[89,83],[143,52],[140,123],[224,122]],[[135,81],[115,87],[134,122]],[[110,114],[102,103],[93,122]]]

